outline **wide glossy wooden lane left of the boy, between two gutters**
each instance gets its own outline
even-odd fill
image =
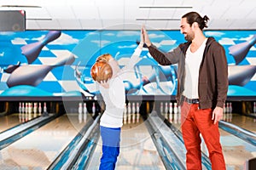
[[[79,114],[66,114],[0,150],[3,169],[46,169],[85,123]]]

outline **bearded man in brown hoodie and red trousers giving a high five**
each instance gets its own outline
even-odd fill
[[[205,37],[208,17],[184,14],[180,30],[187,42],[163,53],[143,36],[149,53],[160,65],[177,64],[177,104],[181,105],[182,132],[187,169],[201,169],[201,137],[207,144],[212,169],[225,169],[219,142],[218,121],[228,91],[228,69],[224,48],[213,37]]]

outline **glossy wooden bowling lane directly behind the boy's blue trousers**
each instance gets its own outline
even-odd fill
[[[102,140],[99,139],[88,169],[98,169],[101,156]],[[166,169],[142,119],[122,127],[116,169]]]

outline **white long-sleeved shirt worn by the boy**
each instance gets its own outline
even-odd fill
[[[106,109],[101,117],[100,125],[103,127],[122,127],[123,112],[125,108],[125,73],[133,70],[133,67],[140,60],[142,49],[137,47],[129,60],[116,77],[109,80],[109,88],[103,88],[98,83],[96,86],[90,86],[89,91],[95,91],[93,88],[98,88],[102,94]]]

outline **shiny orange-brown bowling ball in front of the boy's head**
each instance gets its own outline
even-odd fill
[[[113,75],[110,65],[104,61],[98,61],[90,68],[90,76],[96,82],[108,81]]]

